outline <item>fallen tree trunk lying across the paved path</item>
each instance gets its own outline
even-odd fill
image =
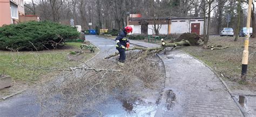
[[[126,49],[126,51],[129,51],[129,50],[142,50],[143,52],[145,52],[144,56],[142,56],[142,57],[146,57],[147,55],[150,55],[150,54],[159,53],[162,50],[164,50],[166,47],[190,46],[191,45],[190,42],[187,41],[187,40],[181,40],[179,42],[173,42],[173,43],[165,43],[163,39],[161,39],[161,41],[162,41],[162,45],[159,46],[159,47],[153,47],[153,48],[133,47],[131,49]],[[116,52],[114,54],[111,54],[109,56],[106,56],[104,58],[108,59],[108,58],[111,58],[111,57],[114,57],[114,56],[117,56],[117,55],[119,55],[118,52]]]

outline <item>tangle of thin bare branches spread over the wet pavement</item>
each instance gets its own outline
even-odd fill
[[[84,110],[99,112],[97,105],[109,97],[126,93],[126,97],[132,98],[141,96],[144,88],[160,89],[161,86],[154,85],[164,76],[160,60],[149,56],[147,61],[136,61],[141,55],[141,52],[129,53],[125,67],[117,65],[114,58],[62,69],[65,72],[58,74],[56,80],[37,86],[42,115],[74,116]]]

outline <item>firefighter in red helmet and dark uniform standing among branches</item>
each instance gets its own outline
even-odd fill
[[[124,62],[125,62],[125,50],[127,48],[130,47],[130,42],[129,40],[126,39],[126,35],[128,33],[131,33],[132,32],[132,27],[131,26],[126,26],[124,28],[124,30],[122,30],[121,32],[119,32],[119,34],[117,35],[117,38],[116,38],[116,42],[117,42],[117,45],[116,45],[116,48],[120,54],[120,57],[119,57],[119,62],[118,64],[119,65],[124,65]]]

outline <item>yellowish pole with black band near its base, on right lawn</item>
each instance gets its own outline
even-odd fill
[[[252,12],[252,0],[248,2],[248,12],[247,12],[247,32],[246,32],[246,39],[245,39],[245,48],[244,52],[242,52],[242,74],[241,79],[242,82],[246,81],[246,74],[247,74],[247,65],[248,65],[248,46],[249,46],[249,38],[250,38],[250,23],[251,23],[251,12]]]

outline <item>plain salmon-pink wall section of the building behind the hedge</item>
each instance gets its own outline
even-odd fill
[[[10,0],[0,1],[0,26],[12,24]]]

